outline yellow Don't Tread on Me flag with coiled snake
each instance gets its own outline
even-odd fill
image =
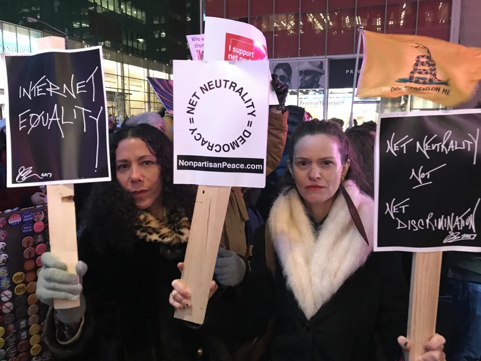
[[[363,31],[357,96],[416,95],[446,106],[469,100],[481,80],[481,48],[414,35]]]

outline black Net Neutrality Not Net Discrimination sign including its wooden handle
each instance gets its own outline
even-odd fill
[[[407,360],[436,328],[442,250],[481,251],[481,111],[381,114],[375,145],[375,251],[412,251]]]

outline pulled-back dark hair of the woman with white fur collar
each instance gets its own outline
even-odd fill
[[[349,154],[354,152],[354,150],[350,147],[346,134],[335,122],[313,119],[311,121],[301,123],[292,133],[291,142],[289,144],[289,160],[291,164],[294,164],[294,149],[296,148],[296,144],[299,142],[299,140],[306,135],[317,134],[330,136],[337,141],[342,164],[346,164],[347,160],[350,159],[351,165],[349,166],[345,179],[353,180],[361,190],[368,187],[369,185],[367,179],[361,168],[355,159],[353,160],[349,156]],[[296,187],[295,180],[289,170],[286,171],[286,174],[282,178],[281,186],[283,189],[288,187],[287,191],[284,193],[285,195],[287,195],[291,189]]]

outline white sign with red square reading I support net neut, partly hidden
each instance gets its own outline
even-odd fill
[[[256,27],[235,20],[205,18],[204,60],[247,61],[268,59],[266,38]],[[270,82],[271,78],[269,78],[269,84]],[[269,104],[279,104],[272,86],[270,90]]]

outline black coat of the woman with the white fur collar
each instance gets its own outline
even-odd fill
[[[409,291],[399,254],[372,253],[308,320],[286,285],[277,257],[275,278],[268,270],[264,232],[264,226],[256,231],[245,303],[218,320],[225,322],[222,327],[235,325],[235,337],[248,338],[262,335],[274,316],[272,361],[373,361],[376,344],[388,361],[401,355],[397,336],[406,333]],[[250,311],[242,312],[246,304]]]

